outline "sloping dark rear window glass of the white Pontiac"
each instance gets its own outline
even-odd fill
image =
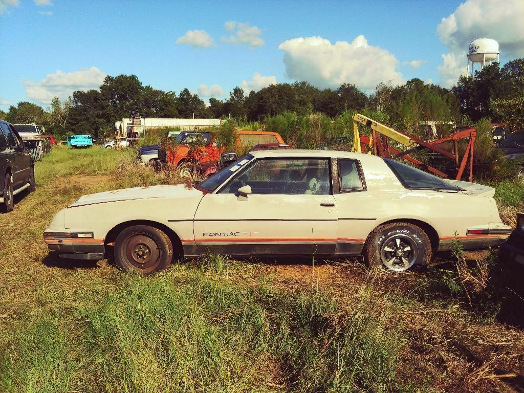
[[[384,158],[402,185],[408,189],[460,191],[460,187],[401,162]]]

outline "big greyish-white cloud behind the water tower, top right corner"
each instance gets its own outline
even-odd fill
[[[524,2],[522,0],[466,0],[436,28],[449,50],[438,67],[440,83],[449,87],[466,72],[466,53],[475,38],[498,41],[501,56],[524,57]]]

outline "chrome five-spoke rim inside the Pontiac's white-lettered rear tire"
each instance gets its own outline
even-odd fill
[[[417,260],[416,244],[406,235],[391,236],[380,247],[380,260],[390,270],[407,270]]]

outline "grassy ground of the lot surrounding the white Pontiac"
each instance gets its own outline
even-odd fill
[[[479,291],[461,285],[445,257],[393,275],[358,260],[209,256],[142,278],[107,260],[50,255],[42,232],[82,194],[177,179],[137,165],[132,151],[67,147],[37,162],[36,179],[37,191],[0,216],[2,392],[476,392],[524,383],[522,276],[490,254]],[[496,187],[501,205],[522,207],[521,185]],[[475,274],[481,265],[469,263]]]

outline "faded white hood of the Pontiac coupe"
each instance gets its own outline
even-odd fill
[[[156,198],[202,198],[202,196],[202,191],[196,190],[190,183],[152,185],[149,187],[126,188],[123,190],[105,191],[96,194],[83,195],[78,201],[70,204],[68,208],[106,202],[122,202]]]

